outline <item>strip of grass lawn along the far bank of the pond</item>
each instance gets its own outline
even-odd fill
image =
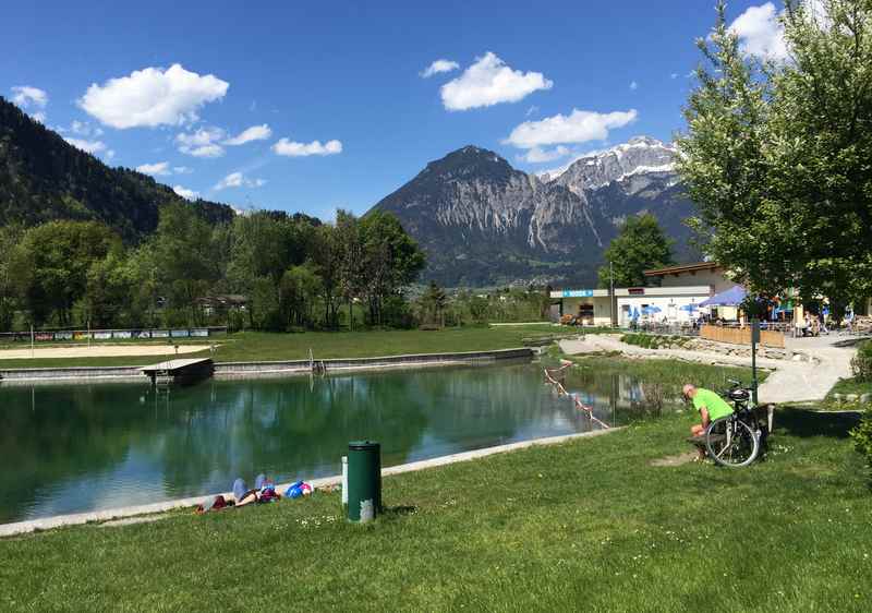
[[[306,332],[300,334],[245,332],[216,336],[211,340],[218,344],[214,356],[217,362],[237,362],[302,360],[308,358],[310,348],[316,358],[322,359],[507,349],[521,347],[524,338],[552,335],[571,336],[580,332],[574,328],[558,328],[549,324],[533,324],[497,327],[474,326],[443,330]],[[154,342],[167,344],[166,340]],[[189,340],[187,342],[196,341]],[[0,352],[0,369],[152,364],[171,359],[174,357],[172,353],[169,345],[167,356],[164,357],[3,360],[2,352]],[[208,349],[204,349],[202,353],[185,354],[186,358],[198,356],[208,357]]]

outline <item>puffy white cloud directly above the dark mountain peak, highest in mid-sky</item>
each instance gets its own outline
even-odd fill
[[[517,103],[537,89],[550,89],[554,82],[541,72],[512,70],[488,51],[463,74],[443,85],[443,105],[448,110],[489,107],[499,103]]]

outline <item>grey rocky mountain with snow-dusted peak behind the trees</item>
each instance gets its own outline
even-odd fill
[[[595,283],[628,215],[650,212],[693,257],[681,220],[693,213],[675,148],[638,137],[541,176],[467,146],[429,163],[374,208],[397,215],[427,252],[424,279],[447,286]]]

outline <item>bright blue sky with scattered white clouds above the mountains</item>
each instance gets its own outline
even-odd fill
[[[467,144],[537,171],[669,140],[713,4],[14,2],[0,94],[108,164],[329,217]],[[730,3],[749,52],[777,53],[779,10]],[[422,76],[436,60],[451,70]]]

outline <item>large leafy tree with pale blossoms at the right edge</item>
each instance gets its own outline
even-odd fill
[[[718,4],[698,41],[678,170],[706,251],[759,293],[837,301],[872,281],[872,3],[788,2],[788,60],[742,55]]]

